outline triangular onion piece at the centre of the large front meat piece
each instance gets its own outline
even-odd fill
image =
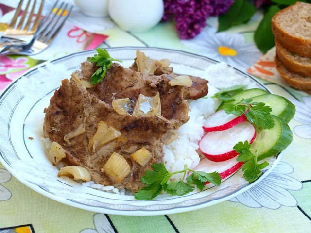
[[[99,147],[121,136],[121,132],[104,121],[97,124],[96,131],[88,142],[88,150],[95,152]]]

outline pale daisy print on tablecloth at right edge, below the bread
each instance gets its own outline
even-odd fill
[[[311,139],[311,97],[302,97],[302,102],[289,99],[296,106],[294,119],[304,123],[294,127],[294,133],[301,138]]]

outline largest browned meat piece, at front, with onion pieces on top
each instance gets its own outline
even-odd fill
[[[118,129],[121,137],[108,142],[95,152],[90,152],[88,142],[100,121]],[[84,124],[86,132],[69,139],[66,143],[64,136],[80,124]],[[59,90],[55,91],[51,98],[43,126],[45,136],[58,142],[66,150],[70,163],[85,167],[96,183],[124,187],[134,192],[143,185],[140,177],[151,169],[153,163],[161,162],[161,137],[172,128],[172,123],[163,117],[119,115],[110,105],[91,95],[85,87],[68,80],[62,81]],[[130,157],[142,146],[152,154],[145,166],[140,166]],[[101,170],[113,152],[120,153],[131,168],[130,175],[120,183],[113,183]]]

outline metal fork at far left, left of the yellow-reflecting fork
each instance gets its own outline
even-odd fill
[[[30,6],[30,2],[32,0],[28,0],[26,8],[19,20],[17,22],[18,15],[21,10],[21,6],[23,4],[24,0],[20,0],[16,12],[14,14],[14,17],[12,18],[11,23],[9,24],[8,28],[5,30],[1,37],[2,43],[0,43],[0,53],[2,50],[6,50],[12,45],[16,46],[23,46],[29,44],[32,39],[34,38],[34,34],[39,26],[40,23],[40,17],[43,9],[43,4],[44,0],[41,1],[40,8],[38,10],[38,13],[35,17],[35,21],[31,27],[32,23],[32,17],[34,16],[34,11],[35,11],[35,5],[36,5],[36,0],[34,0],[33,7],[30,11],[30,14],[28,16],[27,22],[26,22],[26,15],[28,13],[28,9]],[[26,24],[25,24],[26,22]]]

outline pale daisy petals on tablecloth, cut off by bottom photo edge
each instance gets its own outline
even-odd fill
[[[95,214],[93,217],[95,229],[84,229],[80,233],[114,233],[105,214]]]

